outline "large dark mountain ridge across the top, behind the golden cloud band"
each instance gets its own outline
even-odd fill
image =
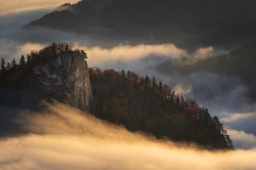
[[[70,9],[49,13],[28,27],[178,47],[233,47],[256,37],[253,0],[83,0]]]

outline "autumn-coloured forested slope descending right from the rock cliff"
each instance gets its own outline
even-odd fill
[[[195,142],[206,147],[233,147],[218,117],[211,117],[192,99],[184,99],[153,77],[134,72],[90,69],[94,96],[91,112],[124,125],[130,131],[146,131],[157,138]]]

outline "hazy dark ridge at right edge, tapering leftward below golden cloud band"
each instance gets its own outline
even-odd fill
[[[172,61],[159,63],[153,69],[162,74],[192,74],[210,72],[224,76],[239,77],[249,88],[248,95],[256,101],[256,45],[246,45],[232,50],[225,55],[218,55],[197,61],[194,64],[183,65]]]

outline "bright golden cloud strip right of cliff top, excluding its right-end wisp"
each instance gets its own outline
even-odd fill
[[[162,45],[119,45],[111,49],[101,47],[86,48],[86,53],[90,56],[89,63],[93,66],[111,62],[135,62],[150,56],[164,56],[167,58],[178,58],[186,54],[186,50],[179,49],[173,44]]]

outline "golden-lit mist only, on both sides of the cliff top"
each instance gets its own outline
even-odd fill
[[[165,57],[170,58],[181,63],[192,63],[200,61],[206,58],[206,55],[212,55],[214,53],[214,48],[212,47],[202,47],[195,51],[194,54],[189,55],[187,50],[176,47],[173,44],[159,44],[159,45],[118,45],[112,48],[102,48],[102,47],[86,47],[80,45],[80,43],[73,43],[75,48],[83,49],[86,51],[89,58],[87,61],[90,66],[105,66],[108,63],[114,62],[124,62],[132,63],[143,60],[145,58],[155,56],[155,57]],[[10,58],[17,58],[20,54],[26,55],[32,50],[40,50],[45,45],[39,43],[26,43],[20,45],[16,53],[12,54]],[[187,57],[187,61],[183,61],[184,57]]]

